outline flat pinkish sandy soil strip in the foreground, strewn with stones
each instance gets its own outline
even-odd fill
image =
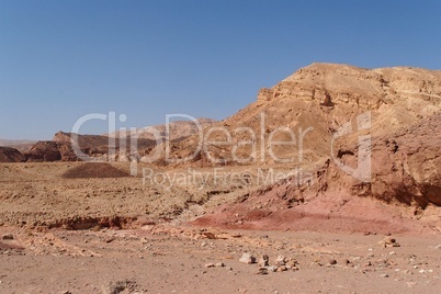
[[[394,236],[400,247],[384,248],[377,245],[384,236],[361,234],[1,231],[14,235],[1,241],[1,293],[114,293],[112,282],[123,293],[439,293],[441,286],[439,236]],[[258,274],[258,264],[238,261],[245,251],[265,253],[270,263],[293,258],[298,270]]]

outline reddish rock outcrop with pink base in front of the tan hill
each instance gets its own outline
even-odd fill
[[[193,223],[235,229],[441,231],[440,127],[441,113],[372,138],[369,181],[336,162],[357,169],[359,146],[341,145],[333,158],[308,167],[307,181],[299,174],[262,186]]]

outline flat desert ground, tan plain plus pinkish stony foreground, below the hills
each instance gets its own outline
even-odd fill
[[[229,182],[220,193],[208,180],[202,189],[193,183],[169,189],[143,181],[143,168],[154,167],[140,165],[138,174],[129,177],[123,162],[0,165],[0,293],[441,289],[441,237],[430,217],[397,224],[394,214],[389,222],[318,215],[293,218],[291,226],[282,222],[271,230],[262,224],[249,228],[245,218],[212,227],[194,220],[225,204],[244,203],[244,193],[258,186]],[[396,211],[411,213],[409,207]],[[275,226],[274,219],[268,222]],[[251,258],[247,253],[256,258],[253,263],[246,263],[253,261],[246,260]],[[269,257],[268,267],[260,264],[262,255]]]

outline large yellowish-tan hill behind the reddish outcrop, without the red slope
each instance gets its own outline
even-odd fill
[[[301,147],[302,161],[314,162],[330,156],[331,139],[339,127],[348,122],[353,122],[355,126],[357,117],[363,113],[369,112],[370,115],[370,135],[380,137],[416,124],[440,109],[441,71],[313,64],[272,88],[261,89],[256,102],[215,124],[231,135],[230,144],[208,144],[200,158],[237,163],[238,160],[233,158],[236,155],[236,158],[244,159],[239,161],[246,163],[274,163],[274,158],[289,158],[296,162]],[[359,133],[357,127],[352,129],[335,144],[357,142]],[[273,140],[295,140],[296,144],[272,146],[270,150],[270,136]],[[226,132],[211,132],[205,134],[204,139],[225,142]],[[184,158],[192,155],[199,143],[200,136],[189,137],[173,145],[171,156]],[[234,148],[235,155],[231,152]]]

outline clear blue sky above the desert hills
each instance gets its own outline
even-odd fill
[[[430,0],[0,0],[0,138],[222,120],[315,61],[441,69],[440,36]]]

